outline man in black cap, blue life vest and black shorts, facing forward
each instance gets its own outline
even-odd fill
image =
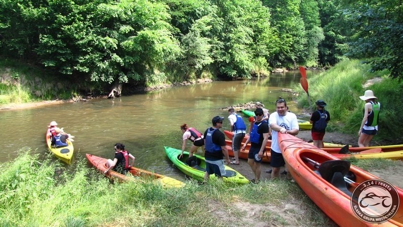
[[[246,145],[250,142],[250,148],[248,153],[248,164],[252,168],[254,179],[250,182],[259,183],[261,174],[261,159],[263,153],[266,152],[266,143],[268,138],[268,125],[266,121],[263,121],[264,112],[262,108],[255,110],[256,121],[253,123],[250,136],[242,146],[242,150],[245,150]]]

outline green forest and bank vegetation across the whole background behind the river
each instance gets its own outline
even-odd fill
[[[402,4],[4,0],[0,104],[110,91],[131,94],[162,84],[252,78],[278,68],[328,69],[341,64],[326,76],[308,78],[310,85],[315,84],[310,91],[313,99],[334,101],[333,129],[342,123],[342,129],[353,132],[362,103],[351,97],[362,95],[361,85],[367,79],[382,77],[382,83],[370,87],[383,101],[379,124],[390,132],[386,137],[401,139],[403,119],[398,113],[403,106],[393,100],[403,99]],[[299,102],[307,106],[304,100]]]

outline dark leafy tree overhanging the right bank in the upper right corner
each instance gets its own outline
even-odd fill
[[[372,71],[403,77],[403,2],[342,0],[350,30],[349,54],[369,58]]]

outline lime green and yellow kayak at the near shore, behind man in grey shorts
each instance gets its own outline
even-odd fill
[[[200,155],[194,155],[197,158],[196,165],[190,167],[185,162],[189,157],[189,152],[183,152],[183,156],[179,159],[181,150],[172,148],[172,147],[164,147],[165,153],[167,154],[168,158],[174,163],[174,165],[182,171],[185,175],[194,178],[197,181],[203,182],[204,176],[206,172],[206,162],[205,158]],[[234,182],[238,184],[248,184],[249,181],[244,176],[236,172],[233,168],[225,165],[225,172],[227,174],[224,176],[224,181]],[[210,175],[210,179],[215,179],[216,176]]]

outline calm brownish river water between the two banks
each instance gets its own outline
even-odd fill
[[[211,119],[220,115],[225,117],[222,130],[229,130],[228,111],[222,107],[260,101],[272,112],[279,96],[288,100],[290,110],[298,115],[301,110],[291,101],[291,93],[282,92],[281,88],[292,88],[299,84],[299,79],[298,72],[288,72],[258,80],[170,87],[115,99],[2,110],[0,163],[14,159],[22,147],[30,147],[32,153],[40,155],[48,153],[45,132],[47,125],[56,121],[58,127],[75,136],[76,160],[85,158],[86,153],[112,158],[113,145],[119,142],[136,157],[137,167],[183,178],[172,167],[163,148],[181,149],[181,124],[204,133],[211,126]],[[247,118],[244,121],[247,123]],[[190,145],[188,141],[186,148]],[[65,166],[73,168],[74,164]]]

